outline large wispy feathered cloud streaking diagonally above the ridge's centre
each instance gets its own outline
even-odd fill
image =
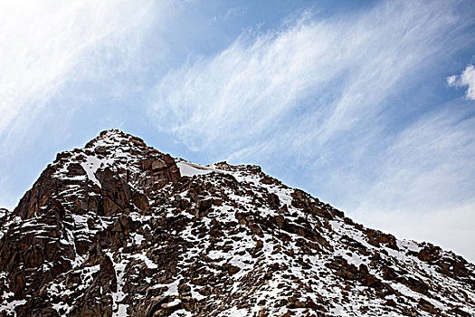
[[[244,34],[169,72],[151,113],[194,149],[239,150],[243,139],[282,130],[290,112],[311,124],[305,138],[323,144],[383,109],[411,75],[447,53],[460,24],[452,11],[442,2],[387,2],[366,14]]]

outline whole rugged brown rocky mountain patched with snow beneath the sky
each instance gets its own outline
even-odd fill
[[[0,224],[0,316],[475,314],[461,256],[119,130],[58,154]]]

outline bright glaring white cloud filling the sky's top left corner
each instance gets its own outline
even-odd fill
[[[26,129],[65,82],[107,75],[109,62],[119,69],[138,40],[130,30],[152,7],[149,0],[3,2],[0,135]]]

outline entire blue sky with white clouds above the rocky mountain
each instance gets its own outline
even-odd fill
[[[118,128],[475,261],[474,54],[471,1],[4,3],[0,206]]]

